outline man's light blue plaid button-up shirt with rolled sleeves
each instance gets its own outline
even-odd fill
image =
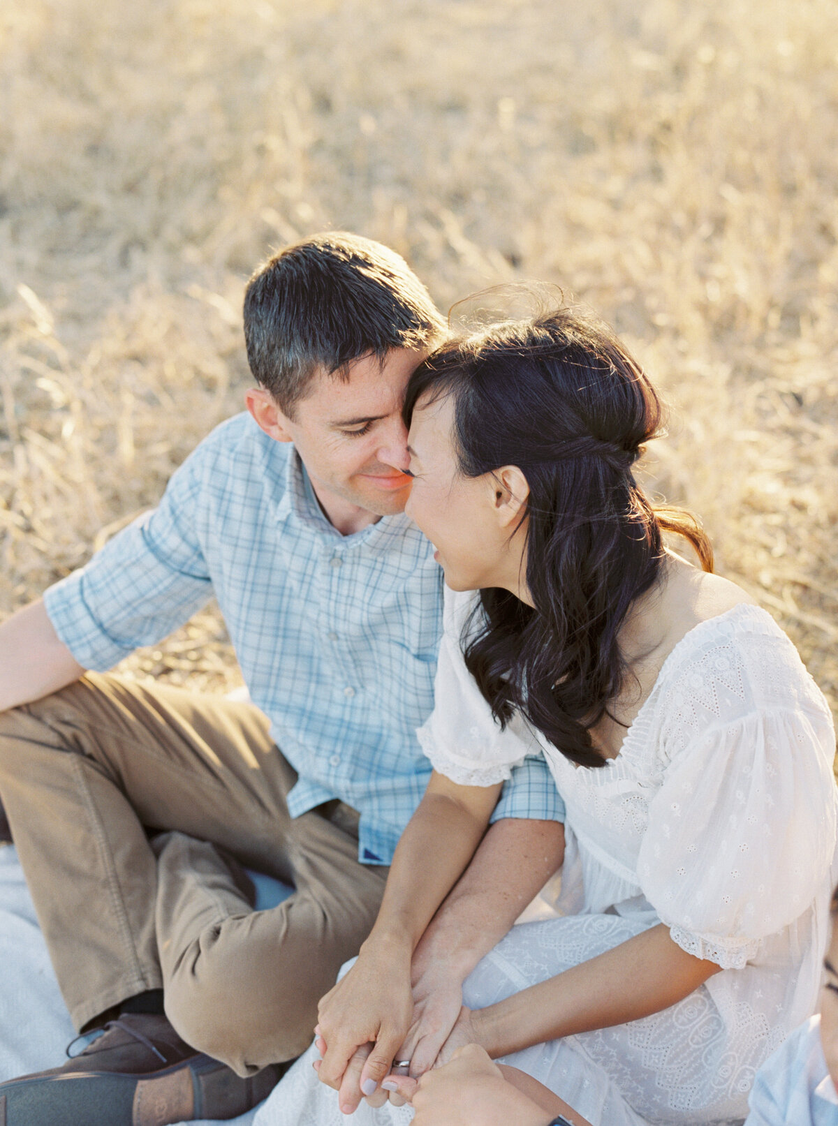
[[[326,519],[286,444],[249,414],[217,427],[160,506],[46,591],[59,637],[87,669],[152,645],[215,595],[251,699],[298,774],[292,816],[333,797],[360,813],[358,856],[389,864],[431,767],[442,571],[403,513],[351,536]],[[498,817],[562,820],[542,758],[505,787]]]

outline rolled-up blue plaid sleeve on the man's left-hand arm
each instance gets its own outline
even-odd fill
[[[157,509],[45,592],[55,632],[83,668],[113,668],[139,646],[168,636],[211,598],[196,531],[199,452],[172,475]]]

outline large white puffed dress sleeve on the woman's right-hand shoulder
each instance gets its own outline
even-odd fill
[[[675,740],[638,857],[643,892],[675,941],[725,969],[757,957],[766,937],[811,906],[835,854],[829,708],[776,633],[790,653],[773,638],[764,670],[758,656],[743,662],[740,695],[705,694],[717,714],[702,713]],[[693,671],[675,686],[681,712],[690,677],[697,683]]]

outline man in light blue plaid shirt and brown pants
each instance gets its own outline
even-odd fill
[[[5,1126],[162,1126],[262,1098],[369,931],[430,777],[414,730],[442,578],[402,511],[401,403],[443,321],[398,254],[330,233],[255,274],[244,331],[249,413],[0,627],[0,796],[72,1018],[113,1021],[1,1084]],[[258,711],[87,671],[211,595]],[[426,959],[456,962],[490,870],[511,923],[559,863],[559,804],[540,760],[518,768]],[[253,911],[240,865],[295,894]]]

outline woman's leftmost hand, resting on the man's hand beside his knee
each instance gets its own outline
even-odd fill
[[[413,1015],[410,948],[363,948],[358,960],[321,1000],[318,1074],[339,1091],[350,1115],[362,1096],[373,1096],[390,1072]],[[407,1057],[405,1057],[407,1058]]]

